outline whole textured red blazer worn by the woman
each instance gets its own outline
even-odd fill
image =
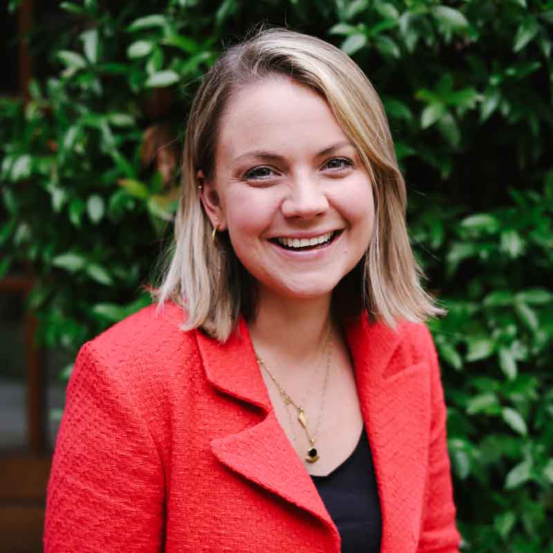
[[[48,484],[46,553],[339,552],[274,415],[241,321],[226,344],[154,307],[85,344]],[[383,553],[458,551],[442,386],[427,328],[346,325]]]

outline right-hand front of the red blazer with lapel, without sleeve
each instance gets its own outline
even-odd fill
[[[413,364],[402,340],[405,333],[370,324],[366,317],[346,324],[377,478],[381,551],[386,553],[416,550],[428,456],[429,371],[424,361]]]

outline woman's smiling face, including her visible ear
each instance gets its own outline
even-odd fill
[[[270,77],[238,91],[221,121],[205,211],[263,293],[332,293],[373,232],[371,179],[328,104]]]

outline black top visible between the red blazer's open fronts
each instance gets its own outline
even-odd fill
[[[338,528],[341,553],[378,553],[382,518],[365,429],[355,451],[337,469],[311,478]]]

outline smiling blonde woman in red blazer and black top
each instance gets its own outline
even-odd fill
[[[77,358],[46,553],[457,551],[440,310],[362,71],[288,30],[229,48],[182,186],[158,307]]]

